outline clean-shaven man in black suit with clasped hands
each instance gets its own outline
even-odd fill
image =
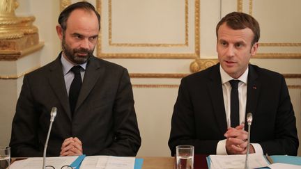
[[[295,115],[284,77],[249,64],[258,49],[258,22],[245,13],[229,13],[217,24],[216,33],[219,63],[180,83],[171,120],[171,155],[177,145],[194,145],[196,154],[246,154],[244,123],[249,112],[249,152],[296,155]],[[231,80],[238,80],[238,86],[231,87]]]

